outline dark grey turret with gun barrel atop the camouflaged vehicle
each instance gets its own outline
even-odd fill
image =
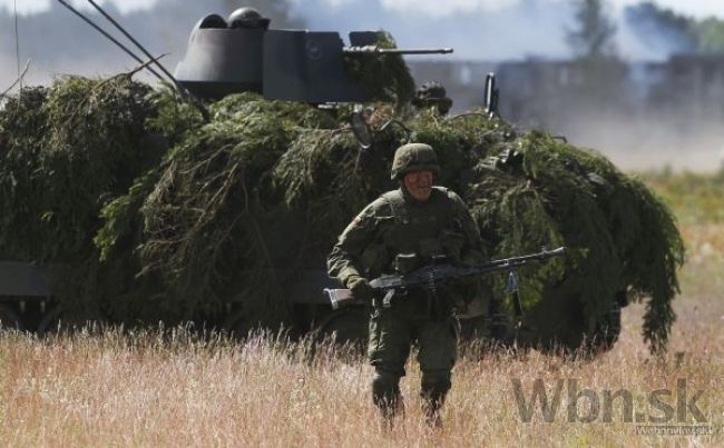
[[[194,28],[175,73],[192,93],[218,99],[255,91],[270,100],[364,102],[374,98],[351,76],[345,58],[452,52],[381,48],[376,31],[353,31],[345,46],[335,31],[270,30],[268,19],[250,10],[235,11],[228,21],[211,14]]]

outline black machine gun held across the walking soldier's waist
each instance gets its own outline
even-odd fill
[[[384,293],[382,299],[383,307],[390,307],[392,297],[398,290],[410,287],[422,287],[431,292],[436,291],[439,282],[453,278],[480,276],[489,272],[508,271],[508,289],[510,292],[517,292],[518,285],[515,277],[515,270],[521,266],[531,262],[540,262],[552,257],[559,257],[566,253],[565,247],[554,250],[541,250],[540,252],[529,253],[520,257],[503,258],[492,260],[479,266],[453,266],[449,262],[431,263],[415,269],[409,273],[383,275],[370,281],[370,286],[375,291]],[[349,289],[324,289],[333,309],[354,302],[352,291]],[[515,297],[516,315],[522,315],[522,306],[517,293]]]

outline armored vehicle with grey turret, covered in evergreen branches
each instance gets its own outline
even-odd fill
[[[197,23],[178,92],[76,79],[28,92],[33,109],[6,103],[0,207],[16,212],[0,221],[0,318],[40,331],[91,317],[363,340],[366,305],[332,307],[323,290],[340,285],[325,257],[363,205],[395,188],[392,153],[414,140],[439,151],[440,183],[467,201],[491,259],[568,248],[521,269],[511,292],[510,276],[491,276],[460,316],[463,336],[605,350],[622,307],[648,300],[644,336],[664,347],[683,259],[666,207],[603,156],[502,120],[492,76],[480,109],[449,117],[449,103],[429,107],[431,89],[413,101],[401,56],[451,51],[398,49],[380,31],[345,44],[242,9]],[[33,199],[62,176],[68,210]]]

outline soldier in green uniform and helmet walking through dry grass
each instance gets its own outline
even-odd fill
[[[397,292],[387,305],[374,295],[368,279],[393,269],[404,273],[436,256],[457,263],[477,263],[482,258],[478,228],[462,199],[433,186],[439,172],[430,146],[398,148],[392,179],[400,188],[365,207],[342,232],[327,259],[330,276],[337,277],[356,299],[372,303],[368,346],[374,366],[372,398],[388,422],[401,409],[399,382],[410,347],[417,341],[423,411],[428,422],[440,424],[439,410],[457,359],[459,327],[453,306],[464,298],[454,293],[459,288],[437,292],[411,288],[404,295]]]

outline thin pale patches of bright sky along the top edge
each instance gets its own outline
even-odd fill
[[[0,6],[12,10],[13,3],[17,1],[18,11],[22,13],[41,11],[47,8],[51,1],[56,0],[0,0]],[[129,11],[134,9],[148,8],[155,3],[156,0],[98,0],[99,3],[112,1],[121,11]],[[192,0],[189,0],[192,1]],[[198,0],[193,0],[198,1]],[[304,3],[304,0],[291,0],[295,3]],[[343,6],[349,2],[358,2],[360,0],[325,0],[332,7]],[[389,9],[393,10],[410,10],[417,9],[424,13],[434,13],[439,16],[452,14],[456,12],[472,12],[485,11],[490,9],[505,9],[515,6],[521,0],[447,0],[444,7],[441,7],[440,0],[381,0],[381,3]],[[540,2],[560,2],[567,0],[538,0]],[[639,3],[642,0],[608,0],[614,7],[623,8],[628,4]],[[77,6],[87,6],[85,0],[70,0],[71,3]],[[724,1],[723,0],[656,0],[656,3],[671,8],[679,13],[686,13],[696,17],[716,16],[724,19]]]

